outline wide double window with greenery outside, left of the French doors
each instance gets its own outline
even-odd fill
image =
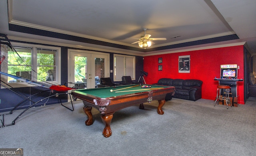
[[[60,47],[12,43],[16,51],[6,46],[1,49],[5,61],[1,71],[10,75],[23,77],[32,81],[60,82]],[[2,46],[1,46],[2,48]],[[1,77],[1,80],[12,87],[28,87],[28,83],[17,81],[12,77]]]

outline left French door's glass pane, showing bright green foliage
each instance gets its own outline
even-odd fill
[[[75,82],[87,82],[87,57],[75,56],[74,57],[74,78]],[[83,86],[78,88],[86,88],[86,83],[81,83]]]

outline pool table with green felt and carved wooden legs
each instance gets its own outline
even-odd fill
[[[142,86],[147,88],[142,88]],[[175,87],[160,85],[120,85],[114,87],[102,87],[94,89],[77,89],[72,91],[72,96],[81,99],[84,103],[84,113],[88,119],[85,121],[87,126],[93,122],[92,107],[101,113],[102,122],[105,125],[103,136],[111,136],[110,123],[113,114],[126,107],[140,104],[139,108],[144,109],[143,103],[158,100],[157,113],[164,114],[162,107],[165,103],[167,93],[174,94]]]

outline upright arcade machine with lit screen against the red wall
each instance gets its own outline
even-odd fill
[[[215,77],[215,81],[219,81],[220,85],[229,85],[230,86],[230,97],[234,97],[232,99],[236,99],[239,96],[237,91],[237,82],[243,81],[243,79],[238,79],[238,65],[220,65],[220,79]],[[222,95],[224,95],[224,90],[222,89]],[[232,102],[233,103],[233,102]],[[234,105],[234,103],[233,103]]]

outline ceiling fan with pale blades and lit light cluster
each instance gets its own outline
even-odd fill
[[[143,31],[145,32],[144,35],[140,36],[140,38],[128,38],[128,39],[138,39],[139,41],[133,42],[134,43],[138,43],[140,47],[150,47],[152,45],[152,40],[156,41],[156,40],[166,40],[166,38],[150,38],[150,34],[146,34],[147,28],[143,28]]]

